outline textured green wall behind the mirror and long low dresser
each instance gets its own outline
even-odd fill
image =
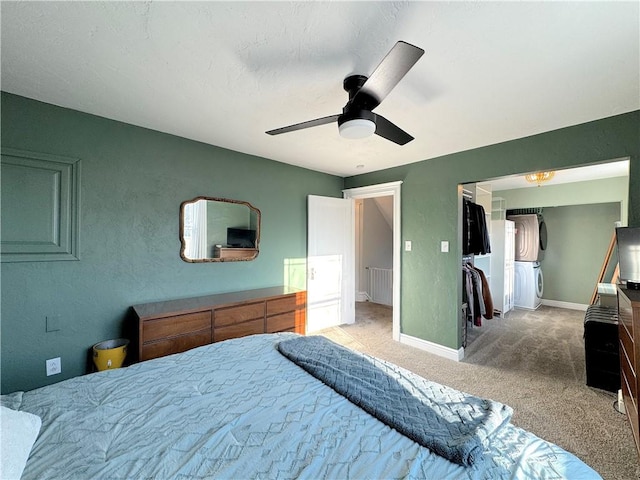
[[[131,305],[282,284],[285,263],[306,257],[307,195],[342,196],[339,177],[6,93],[2,145],[82,162],[80,261],[2,264],[3,393],[85,373],[91,345],[122,335]],[[180,259],[180,203],[198,195],[261,210],[255,261]],[[45,332],[48,315],[60,331]],[[52,357],[63,373],[46,377]]]

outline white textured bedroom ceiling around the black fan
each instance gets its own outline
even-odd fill
[[[18,95],[349,176],[640,108],[639,2],[1,3]],[[425,55],[376,109],[416,139],[346,140],[342,80]]]

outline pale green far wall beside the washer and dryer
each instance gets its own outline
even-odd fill
[[[543,299],[589,305],[620,204],[546,207],[542,213],[548,232]]]

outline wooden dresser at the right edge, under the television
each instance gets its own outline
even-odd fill
[[[618,287],[618,322],[620,336],[620,371],[622,396],[633,439],[640,454],[638,423],[638,367],[640,367],[640,290]],[[635,335],[638,335],[638,338]]]

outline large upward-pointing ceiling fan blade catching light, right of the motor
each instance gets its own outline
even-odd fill
[[[356,93],[353,98],[354,103],[362,93],[377,102],[371,107],[372,109],[377,107],[423,54],[424,50],[415,45],[403,41],[397,42]]]

